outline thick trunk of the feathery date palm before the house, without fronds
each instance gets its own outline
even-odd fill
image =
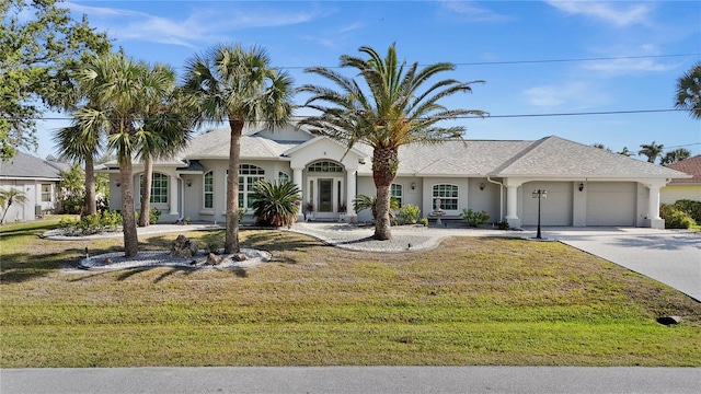
[[[375,219],[374,239],[387,241],[392,239],[390,222],[390,186],[397,176],[399,165],[398,150],[376,147],[372,151],[372,179],[377,187],[377,218]]]

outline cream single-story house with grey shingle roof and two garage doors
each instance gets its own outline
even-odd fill
[[[152,206],[161,221],[225,222],[229,130],[205,132],[193,139],[175,160],[153,166]],[[291,181],[311,202],[314,220],[369,221],[369,210],[353,211],[356,195],[375,196],[371,148],[345,146],[294,126],[279,131],[245,132],[241,141],[239,202],[252,220],[252,188],[261,178]],[[404,146],[399,173],[391,187],[401,204],[432,217],[440,199],[445,218],[458,218],[463,208],[484,210],[493,221],[513,228],[537,223],[536,189],[545,189],[544,225],[630,225],[664,228],[659,189],[671,178],[688,175],[621,154],[558,137],[537,141],[467,140]],[[135,196],[140,195],[142,165],[135,163]],[[118,165],[97,169],[110,173],[111,208],[119,209]],[[140,201],[137,198],[137,209]],[[301,218],[302,212],[300,212]]]

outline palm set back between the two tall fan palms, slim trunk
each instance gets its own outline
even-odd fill
[[[171,86],[161,103],[148,108],[143,126],[137,130],[137,155],[143,163],[139,227],[150,224],[153,160],[172,158],[185,148],[193,135],[191,126],[194,118],[189,116],[185,97],[175,90],[175,72],[166,66],[157,68],[162,68],[162,77],[168,80],[164,83]]]

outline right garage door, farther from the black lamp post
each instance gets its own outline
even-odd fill
[[[589,182],[586,188],[587,225],[635,225],[634,182]]]

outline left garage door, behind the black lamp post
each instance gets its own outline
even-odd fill
[[[524,225],[538,224],[538,198],[533,190],[548,192],[541,201],[540,223],[542,225],[572,225],[572,182],[529,182],[524,184]]]

